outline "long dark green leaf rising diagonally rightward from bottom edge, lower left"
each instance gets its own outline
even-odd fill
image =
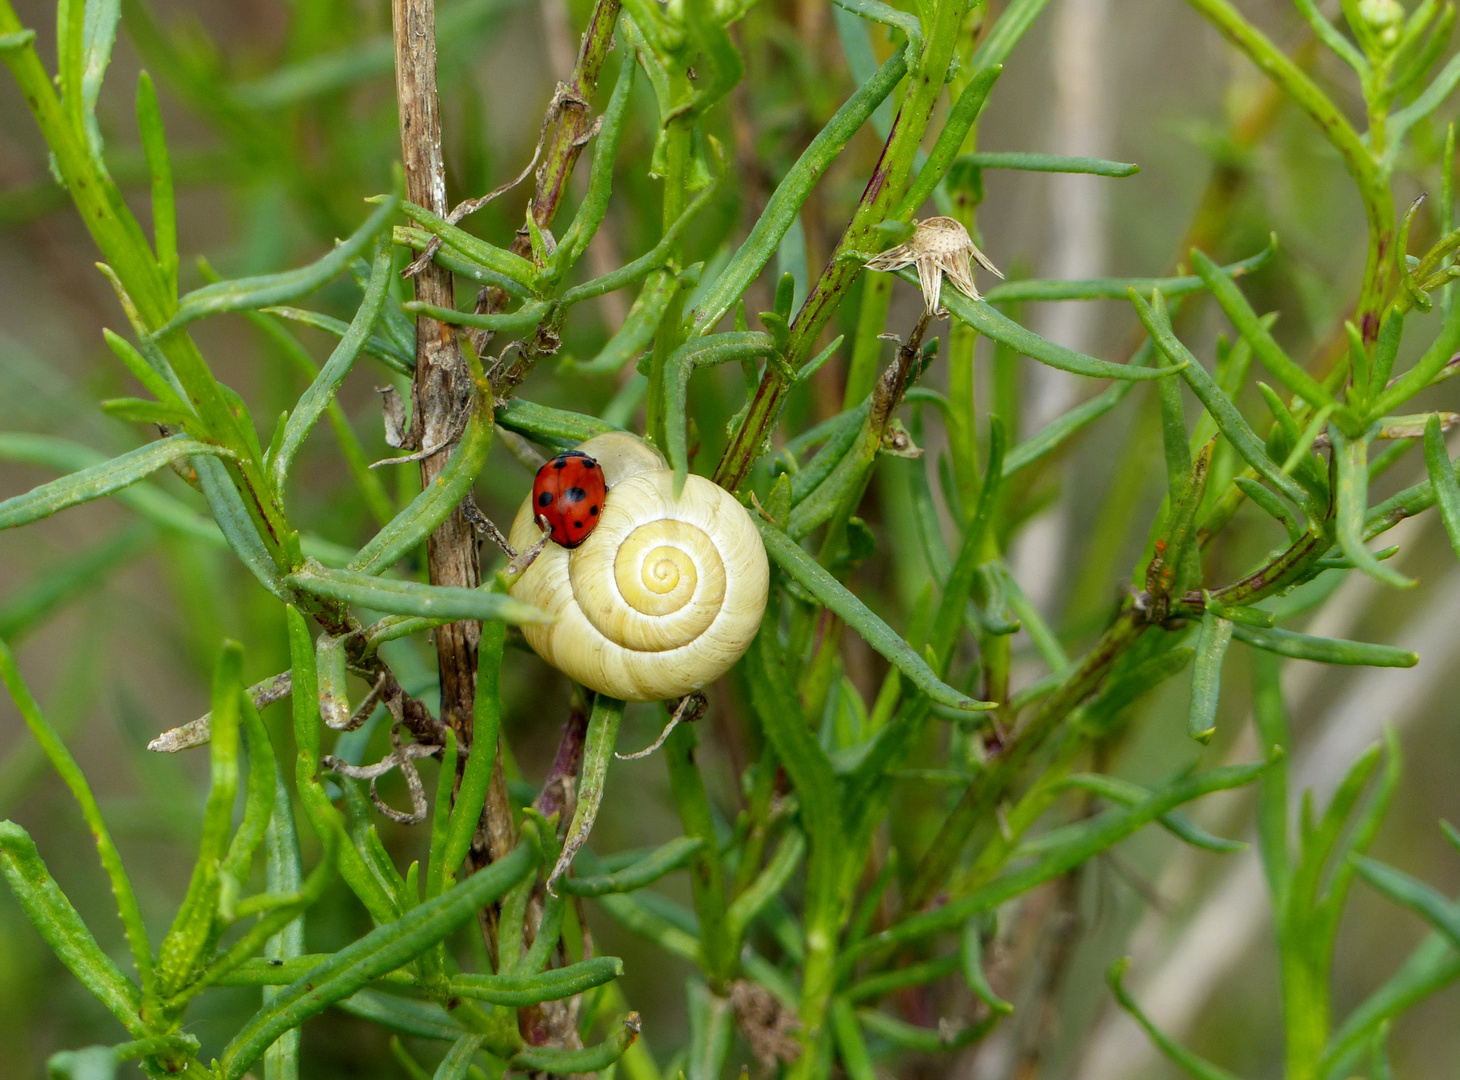
[[[321,1013],[419,956],[437,941],[476,917],[483,905],[502,896],[536,865],[531,844],[479,870],[434,900],[412,908],[402,918],[377,927],[361,940],[334,953],[308,976],[292,982],[267,1007],[248,1020],[219,1055],[222,1080],[239,1080],[264,1049],[292,1027]]]

